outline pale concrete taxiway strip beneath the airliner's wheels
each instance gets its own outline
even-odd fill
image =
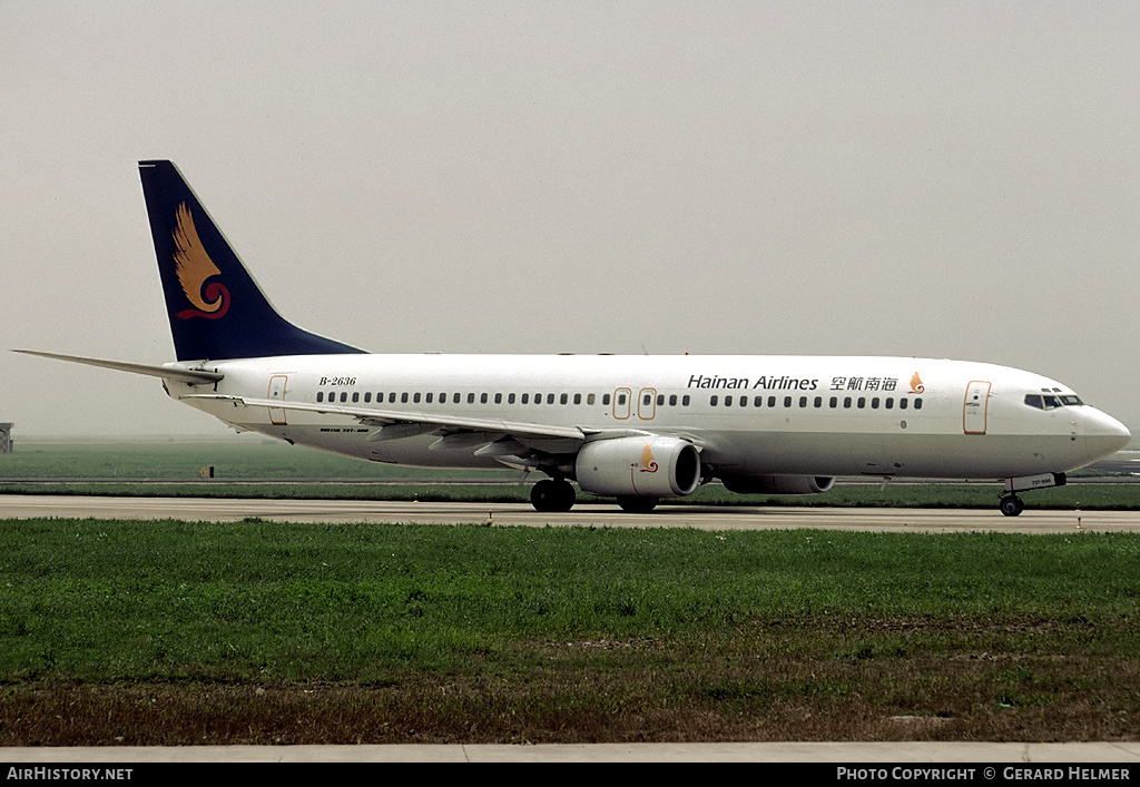
[[[1140,532],[1137,511],[1045,511],[1003,517],[996,509],[856,509],[662,505],[626,513],[614,505],[578,504],[539,513],[524,503],[418,503],[201,497],[0,495],[0,519],[98,518],[238,521],[250,517],[294,522],[406,522],[526,527],[687,527],[705,530],[828,528],[896,533]]]

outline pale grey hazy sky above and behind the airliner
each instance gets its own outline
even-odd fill
[[[0,0],[0,421],[226,433],[137,161],[385,352],[953,357],[1140,432],[1140,3]]]

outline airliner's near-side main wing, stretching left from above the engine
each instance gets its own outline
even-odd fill
[[[369,436],[372,440],[399,439],[412,437],[424,432],[441,431],[443,439],[451,439],[451,446],[461,447],[463,440],[455,433],[469,432],[472,436],[467,440],[471,446],[491,443],[502,437],[512,437],[526,444],[535,446],[535,441],[554,440],[557,443],[569,441],[565,448],[554,445],[546,446],[545,449],[552,453],[568,453],[576,451],[581,443],[585,443],[589,435],[597,433],[598,430],[580,429],[578,427],[559,427],[543,423],[527,423],[520,421],[499,421],[496,419],[477,419],[458,415],[445,415],[438,413],[410,413],[392,409],[376,409],[372,407],[344,407],[340,405],[309,404],[300,401],[280,401],[279,399],[260,399],[243,396],[226,396],[220,394],[189,394],[179,397],[181,399],[213,399],[215,401],[230,401],[236,407],[270,407],[272,409],[290,409],[307,413],[321,413],[334,415],[348,415],[360,421],[361,424],[380,427],[377,432]],[[418,427],[409,429],[409,427]],[[385,433],[386,432],[386,433]],[[449,432],[451,435],[449,435]],[[478,453],[478,452],[477,452]]]

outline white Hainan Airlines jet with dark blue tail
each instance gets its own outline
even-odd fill
[[[139,172],[178,362],[33,355],[161,378],[239,431],[372,462],[539,471],[539,511],[569,510],[572,482],[648,511],[714,479],[811,494],[863,476],[1004,480],[1008,516],[1018,492],[1130,439],[1067,386],[991,364],[367,354],[282,318],[171,162]]]

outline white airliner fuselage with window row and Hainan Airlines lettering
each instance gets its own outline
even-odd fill
[[[375,462],[502,466],[494,430],[377,439],[363,411],[678,437],[718,477],[997,479],[1084,466],[1126,445],[1115,419],[1054,380],[991,364],[893,357],[325,355],[190,362],[237,407],[168,383],[242,430]],[[291,405],[307,405],[295,409]],[[345,414],[344,409],[351,411]],[[511,433],[504,429],[503,433]],[[445,439],[448,438],[448,439]],[[514,435],[523,446],[527,436]],[[581,441],[568,440],[564,452]],[[538,447],[557,454],[557,440]],[[483,448],[483,451],[479,451]],[[500,454],[502,452],[499,452]]]

